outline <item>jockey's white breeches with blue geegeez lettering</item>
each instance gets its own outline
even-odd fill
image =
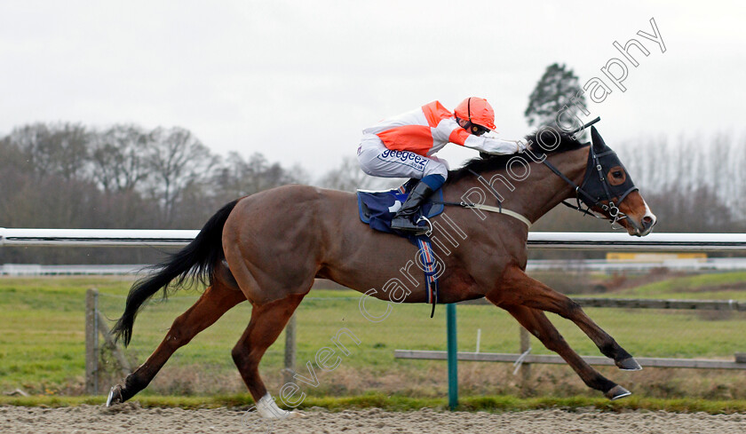
[[[417,178],[440,175],[448,178],[448,162],[436,156],[424,157],[409,151],[392,151],[375,134],[362,136],[358,147],[362,171],[372,177]]]

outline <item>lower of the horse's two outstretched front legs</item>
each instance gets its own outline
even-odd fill
[[[597,391],[604,392],[609,399],[623,398],[630,395],[622,386],[608,380],[599,372],[593,369],[567,344],[565,338],[559,334],[559,331],[546,318],[544,312],[536,311],[525,306],[501,306],[520,322],[532,335],[535,335],[544,346],[559,354],[565,359],[567,364],[572,367],[577,375],[583,380],[588,387]]]

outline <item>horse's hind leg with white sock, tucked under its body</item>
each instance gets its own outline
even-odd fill
[[[262,417],[279,419],[290,414],[274,404],[259,376],[259,361],[280,335],[304,295],[291,295],[266,304],[254,304],[249,326],[232,351],[235,366],[249,388]]]

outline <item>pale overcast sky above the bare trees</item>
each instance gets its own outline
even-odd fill
[[[744,2],[235,1],[0,3],[0,133],[30,122],[181,126],[217,154],[265,154],[313,175],[361,130],[439,99],[495,107],[504,138],[544,68],[580,82],[631,38],[639,67],[591,103],[607,144],[645,135],[742,137]],[[637,36],[653,33],[666,51]],[[451,165],[473,151],[449,145]]]

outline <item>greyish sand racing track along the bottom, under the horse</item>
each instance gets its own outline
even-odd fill
[[[141,408],[137,403],[105,408],[0,406],[3,433],[746,433],[746,414],[604,413],[533,410],[503,414],[392,413],[378,409],[304,412],[303,417],[260,426],[255,414],[226,408]],[[250,426],[247,426],[250,425]],[[269,430],[267,429],[269,428]]]

